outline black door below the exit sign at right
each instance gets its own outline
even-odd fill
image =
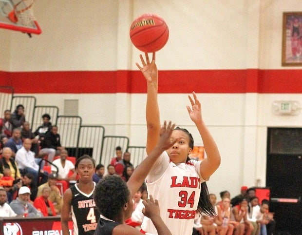
[[[268,128],[266,187],[275,234],[302,234],[302,128]]]

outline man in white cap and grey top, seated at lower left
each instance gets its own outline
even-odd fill
[[[30,195],[30,189],[23,186],[19,189],[18,197],[9,204],[17,215],[24,215],[25,208],[27,207],[28,217],[38,217],[37,209],[29,202]]]

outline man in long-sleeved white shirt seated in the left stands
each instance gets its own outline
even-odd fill
[[[31,173],[35,176],[35,182],[38,183],[39,175],[42,176],[42,181],[45,182],[47,178],[47,173],[44,172],[42,169],[40,170],[41,174],[39,173],[39,161],[41,159],[35,158],[35,153],[30,151],[32,147],[31,139],[24,139],[23,147],[18,150],[16,154],[16,161],[19,165],[19,169],[23,172],[23,174]]]

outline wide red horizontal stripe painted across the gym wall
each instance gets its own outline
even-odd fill
[[[145,93],[140,71],[0,71],[15,93]],[[164,70],[159,93],[302,93],[302,70]]]

